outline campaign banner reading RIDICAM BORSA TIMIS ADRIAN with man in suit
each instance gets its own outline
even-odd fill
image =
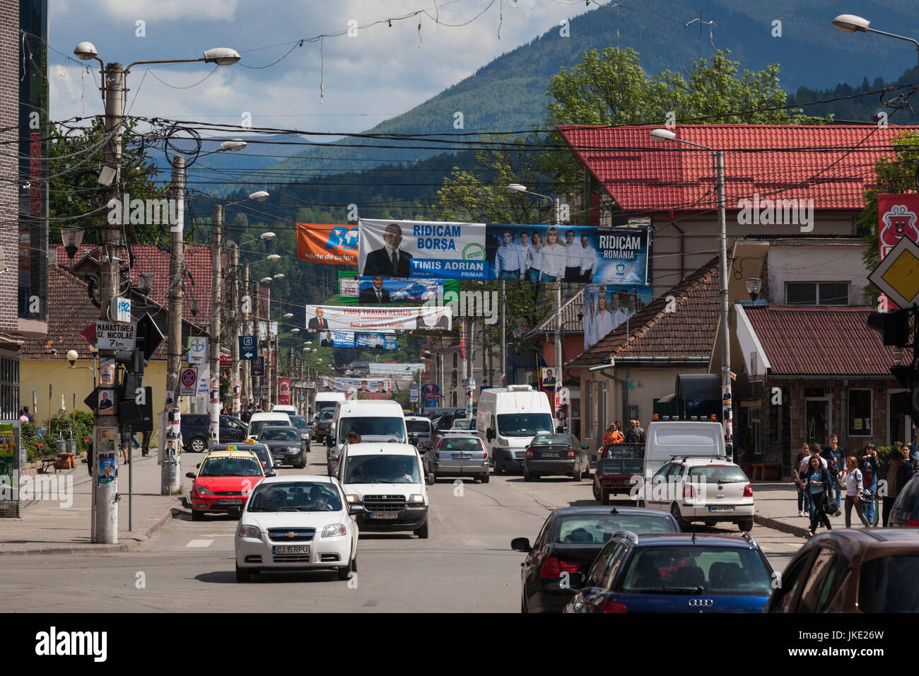
[[[485,223],[359,222],[357,273],[399,279],[484,280]]]

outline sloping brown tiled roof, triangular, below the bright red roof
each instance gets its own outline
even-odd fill
[[[632,316],[629,333],[626,325],[620,324],[569,365],[596,366],[608,362],[610,356],[666,357],[674,361],[708,358],[719,321],[718,269],[718,258],[713,258]],[[674,312],[666,311],[670,296],[676,304]]]

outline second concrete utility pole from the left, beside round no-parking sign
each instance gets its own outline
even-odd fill
[[[178,376],[182,361],[182,274],[185,224],[185,157],[173,158],[173,200],[177,222],[169,227],[169,315],[166,319],[166,426],[165,458],[160,473],[160,494],[171,495],[179,487],[179,437],[181,425],[178,407]]]

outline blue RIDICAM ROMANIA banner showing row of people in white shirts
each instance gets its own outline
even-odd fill
[[[489,223],[485,240],[490,280],[651,283],[650,228]]]

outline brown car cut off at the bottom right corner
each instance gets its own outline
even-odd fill
[[[782,572],[766,613],[919,612],[919,531],[834,529]]]

